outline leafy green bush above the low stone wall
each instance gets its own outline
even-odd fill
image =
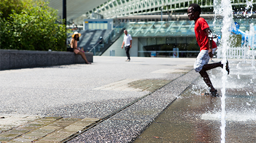
[[[15,2],[15,3],[12,3]],[[1,0],[1,49],[66,50],[66,27],[42,0]]]

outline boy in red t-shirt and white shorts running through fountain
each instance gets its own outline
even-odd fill
[[[214,54],[212,54],[212,33],[206,20],[200,17],[200,13],[201,7],[198,4],[189,5],[187,9],[187,16],[189,20],[195,20],[195,34],[197,43],[200,46],[200,53],[197,56],[194,69],[203,77],[204,82],[210,89],[211,96],[216,97],[218,96],[217,90],[212,85],[209,75],[206,71],[217,67],[223,68],[223,64],[221,64],[221,62],[207,64],[209,59],[214,56]],[[227,74],[229,74],[228,62],[226,63],[226,71]]]

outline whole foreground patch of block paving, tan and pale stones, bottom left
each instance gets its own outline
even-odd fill
[[[2,142],[61,142],[100,119],[0,115]]]

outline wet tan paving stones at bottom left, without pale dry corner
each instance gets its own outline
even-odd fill
[[[20,119],[22,120],[22,119]],[[0,133],[4,142],[61,142],[100,121],[97,118],[46,117]],[[41,123],[41,124],[40,124]]]

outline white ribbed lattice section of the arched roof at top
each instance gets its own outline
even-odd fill
[[[170,13],[172,11],[187,10],[192,3],[199,4],[201,8],[214,8],[215,0],[109,0],[87,12],[98,13],[104,18],[116,18],[129,15],[143,15],[152,13]],[[249,0],[247,0],[249,2]],[[246,0],[231,0],[231,5],[246,5]],[[217,2],[217,1],[216,1]],[[218,3],[218,2],[217,2]],[[256,2],[250,1],[251,4]]]

